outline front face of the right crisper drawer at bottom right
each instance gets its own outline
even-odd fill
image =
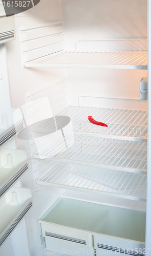
[[[94,235],[94,248],[96,249],[96,255],[108,253],[141,256],[145,254],[145,243],[102,235]]]

